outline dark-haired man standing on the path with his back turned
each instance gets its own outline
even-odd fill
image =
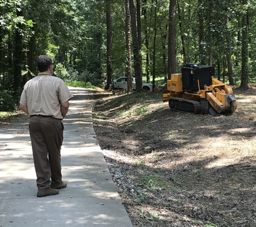
[[[38,197],[59,194],[67,186],[62,181],[60,148],[63,122],[73,95],[65,82],[52,76],[52,58],[40,55],[38,76],[27,81],[20,97],[19,109],[30,115],[29,132],[37,174]]]

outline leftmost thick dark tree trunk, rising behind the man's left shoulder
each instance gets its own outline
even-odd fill
[[[16,10],[17,17],[22,17],[22,11]],[[22,24],[18,23],[17,29],[15,31],[15,53],[14,53],[14,70],[13,70],[13,95],[14,97],[18,97],[20,82],[22,79],[22,62],[23,62],[23,54],[22,54],[22,34],[20,33],[22,30]]]

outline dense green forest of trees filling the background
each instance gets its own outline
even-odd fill
[[[53,58],[55,76],[95,86],[126,75],[155,83],[194,62],[247,89],[256,81],[254,3],[0,0],[0,111],[15,108],[39,55]]]

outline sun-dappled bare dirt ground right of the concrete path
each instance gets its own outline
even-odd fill
[[[93,124],[134,226],[256,226],[256,84],[233,115],[173,112],[162,93],[95,93]]]

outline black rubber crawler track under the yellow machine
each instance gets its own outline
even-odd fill
[[[192,112],[198,114],[201,112],[201,105],[194,100],[188,100],[186,98],[170,98],[169,107],[172,111],[178,112]]]

